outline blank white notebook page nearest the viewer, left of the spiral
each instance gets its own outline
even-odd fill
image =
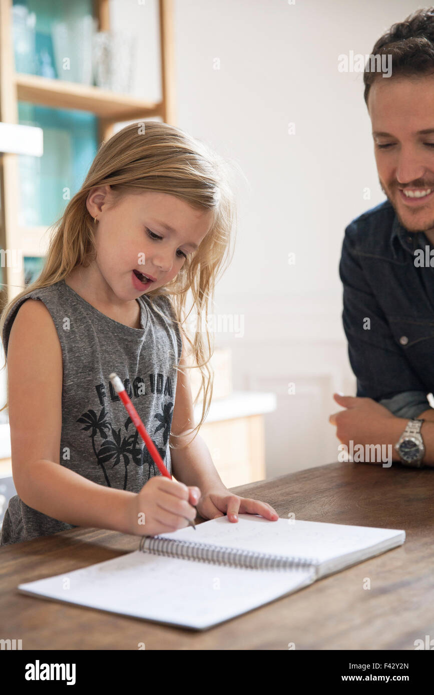
[[[200,630],[296,591],[314,578],[313,571],[234,569],[136,550],[65,575],[20,584],[19,589]]]

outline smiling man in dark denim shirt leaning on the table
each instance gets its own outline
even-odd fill
[[[394,24],[372,54],[392,60],[392,76],[371,63],[364,72],[387,200],[345,231],[339,273],[357,398],[335,394],[346,410],[330,423],[346,445],[396,444],[394,461],[434,466],[434,8]]]

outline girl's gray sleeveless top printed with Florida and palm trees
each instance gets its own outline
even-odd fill
[[[175,405],[177,365],[182,339],[172,321],[170,298],[138,297],[141,329],[125,326],[83,300],[64,280],[22,297],[8,313],[3,347],[19,306],[27,299],[44,302],[62,348],[62,432],[60,464],[100,485],[139,492],[161,475],[124,404],[109,380],[117,373],[147,433],[171,473],[168,445]],[[38,407],[38,394],[34,394]],[[0,545],[77,528],[32,509],[18,495],[3,519]]]

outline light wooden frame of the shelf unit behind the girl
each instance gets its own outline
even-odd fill
[[[122,121],[161,117],[175,125],[175,60],[172,0],[159,0],[161,95],[159,102],[117,94],[99,87],[39,75],[15,72],[13,0],[0,0],[0,121],[18,123],[18,101],[59,109],[93,113],[98,119],[99,143],[113,134]],[[94,0],[99,31],[109,31],[109,0]],[[43,256],[48,235],[45,227],[20,227],[18,220],[19,171],[16,154],[0,153],[0,247],[19,249],[22,255]],[[1,307],[24,289],[24,270],[3,267]]]

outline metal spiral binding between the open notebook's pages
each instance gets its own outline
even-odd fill
[[[142,536],[139,550],[142,553],[181,557],[197,562],[212,562],[240,569],[310,569],[318,564],[315,559],[268,555],[268,553],[257,553],[255,550],[238,550],[227,546],[213,546],[207,543],[194,543],[193,541],[175,541],[159,536]]]

